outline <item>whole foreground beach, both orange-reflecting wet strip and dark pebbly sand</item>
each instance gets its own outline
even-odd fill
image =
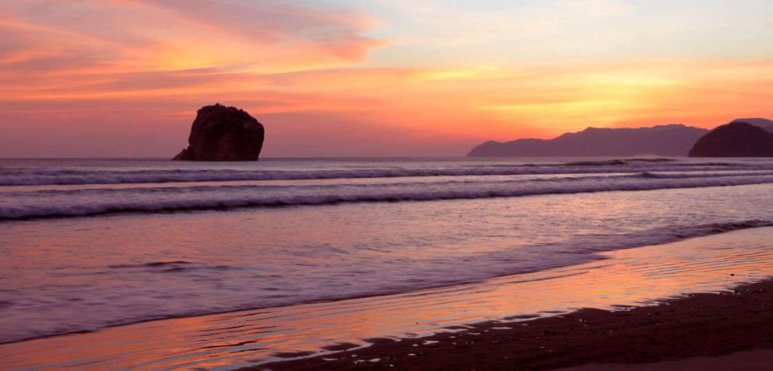
[[[0,344],[0,369],[549,369],[773,348],[771,284],[730,294],[773,277],[771,236],[737,230],[472,284]],[[725,294],[652,307],[690,292]]]

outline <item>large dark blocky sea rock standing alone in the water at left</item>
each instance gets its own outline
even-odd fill
[[[172,160],[257,161],[263,148],[260,122],[237,107],[202,107],[193,121],[188,148]]]

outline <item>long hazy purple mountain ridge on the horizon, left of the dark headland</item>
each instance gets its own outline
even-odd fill
[[[707,129],[683,124],[652,128],[587,128],[553,139],[487,141],[472,148],[468,157],[505,156],[685,156]]]

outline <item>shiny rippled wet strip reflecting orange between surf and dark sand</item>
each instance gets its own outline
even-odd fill
[[[284,308],[238,311],[107,328],[0,345],[0,368],[230,369],[278,352],[326,352],[325,345],[378,336],[418,337],[452,325],[573,308],[649,305],[718,291],[773,274],[773,227],[617,250],[604,260],[477,284]],[[732,274],[732,275],[731,275]]]

